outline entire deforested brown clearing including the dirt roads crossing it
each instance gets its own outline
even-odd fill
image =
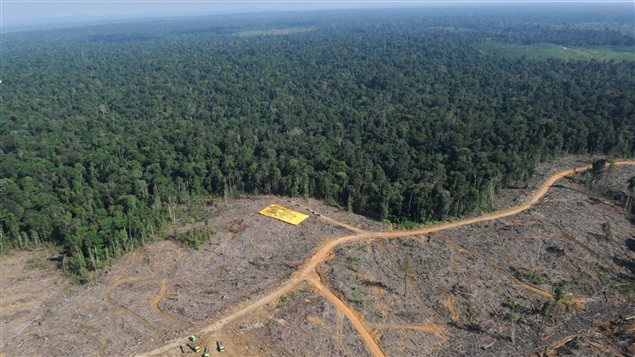
[[[619,167],[612,184],[629,175]],[[405,232],[314,200],[238,199],[216,208],[200,250],[148,244],[91,286],[33,253],[3,257],[0,353],[180,355],[197,333],[229,356],[626,355],[633,225],[575,180],[547,193],[558,178],[513,190],[535,192],[525,205]],[[257,214],[270,203],[322,217],[295,227]],[[555,286],[566,297],[542,314]]]

